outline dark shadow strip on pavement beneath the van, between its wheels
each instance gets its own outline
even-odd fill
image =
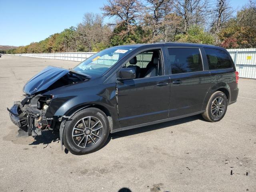
[[[143,132],[148,132],[148,131],[152,131],[152,130],[157,130],[157,129],[161,129],[161,128],[166,128],[166,127],[170,127],[170,126],[174,126],[174,125],[179,125],[179,124],[191,122],[191,121],[198,120],[198,119],[205,121],[204,118],[202,117],[202,115],[199,114],[199,115],[194,115],[194,116],[181,118],[181,119],[177,119],[177,120],[172,120],[172,121],[168,121],[168,122],[163,122],[163,123],[159,123],[159,124],[148,125],[148,126],[144,126],[144,127],[135,128],[135,129],[116,132],[116,133],[110,134],[110,136],[112,139],[116,139],[116,138],[130,136],[130,135],[139,134],[139,133],[143,133]]]

